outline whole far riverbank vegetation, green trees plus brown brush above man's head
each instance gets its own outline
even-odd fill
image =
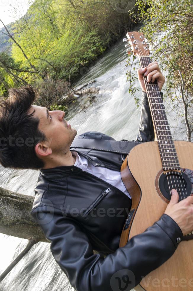
[[[59,100],[69,93],[67,82],[129,29],[134,0],[119,6],[115,0],[35,0],[11,27],[11,56],[5,68],[0,63],[1,95],[12,86],[30,84],[39,92],[39,105],[66,106]],[[70,101],[75,102],[73,96],[65,100]]]

